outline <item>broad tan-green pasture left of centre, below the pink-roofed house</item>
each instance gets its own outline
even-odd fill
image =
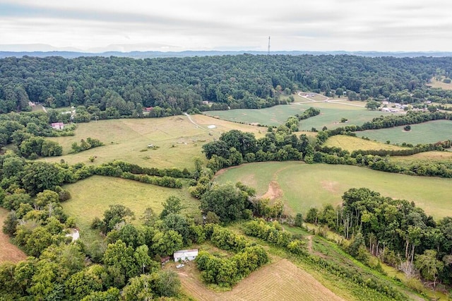
[[[214,125],[215,129],[208,126]],[[75,136],[50,138],[63,146],[60,157],[44,158],[48,162],[101,164],[113,160],[124,160],[143,167],[179,167],[192,168],[193,158],[204,158],[201,146],[213,141],[220,134],[231,129],[249,131],[256,136],[265,134],[266,130],[258,126],[225,122],[220,119],[194,115],[174,116],[148,119],[114,119],[99,120],[78,124]],[[262,132],[263,134],[260,134]],[[105,146],[93,148],[81,153],[69,154],[74,142],[81,139],[97,138]],[[158,146],[156,150],[148,148],[149,144]],[[94,163],[89,158],[96,156]]]

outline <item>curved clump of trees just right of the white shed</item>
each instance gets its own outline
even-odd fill
[[[201,271],[204,282],[228,288],[268,262],[268,255],[263,247],[248,242],[242,235],[213,224],[208,224],[205,228],[210,242],[234,255],[225,258],[205,251],[199,252],[196,266]]]

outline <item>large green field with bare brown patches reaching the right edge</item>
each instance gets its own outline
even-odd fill
[[[434,216],[452,216],[452,179],[415,177],[379,172],[348,165],[308,165],[300,162],[252,163],[219,172],[216,182],[242,182],[256,188],[258,195],[268,187],[280,189],[280,199],[289,213],[306,213],[311,207],[333,206],[350,188],[367,187],[382,196],[414,201]],[[270,185],[270,182],[273,184]],[[275,185],[276,183],[276,185]]]

